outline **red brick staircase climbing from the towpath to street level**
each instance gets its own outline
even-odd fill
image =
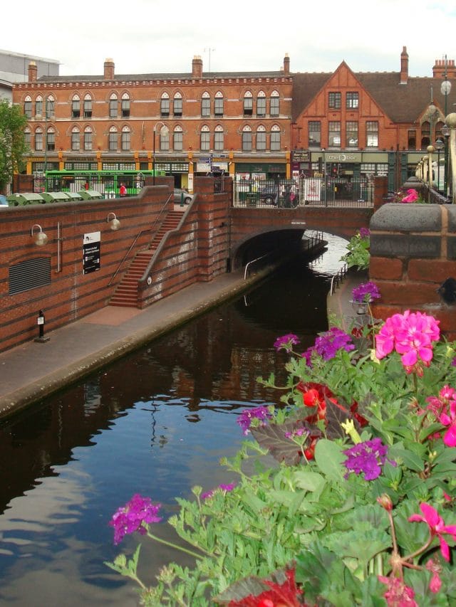
[[[128,270],[123,275],[122,280],[118,284],[113,297],[111,297],[109,305],[119,307],[138,307],[138,280],[142,277],[149,265],[150,260],[155,255],[157,247],[162,241],[162,238],[170,230],[177,228],[183,211],[169,211],[160,228],[155,232],[152,242],[147,249],[140,250],[136,253]]]

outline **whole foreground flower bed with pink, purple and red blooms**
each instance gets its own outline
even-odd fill
[[[294,334],[274,345],[288,380],[259,379],[279,404],[239,416],[249,440],[223,462],[237,481],[194,487],[168,519],[193,568],[170,564],[149,586],[139,546],[108,565],[151,606],[455,605],[456,343],[406,311],[353,334],[331,327],[304,353]],[[110,523],[115,541],[138,531],[173,545],[152,532],[158,512],[134,496]]]

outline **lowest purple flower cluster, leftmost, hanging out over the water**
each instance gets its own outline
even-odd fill
[[[110,527],[114,527],[114,544],[119,544],[123,537],[138,531],[141,535],[147,533],[144,524],[160,522],[157,517],[160,504],[152,505],[150,497],[142,497],[136,493],[123,508],[119,508],[110,519]]]

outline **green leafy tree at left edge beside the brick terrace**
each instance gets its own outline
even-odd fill
[[[28,146],[24,135],[27,117],[19,105],[0,100],[0,191],[13,179],[14,172],[24,169]]]

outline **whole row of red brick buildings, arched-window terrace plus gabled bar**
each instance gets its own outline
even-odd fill
[[[398,62],[399,63],[399,62]],[[398,72],[205,73],[36,77],[14,85],[29,118],[27,173],[47,169],[162,169],[192,190],[193,176],[219,167],[232,176],[388,174],[391,189],[414,174],[441,137],[456,102],[454,60],[411,78]],[[440,92],[444,80],[453,84]],[[45,112],[47,106],[47,113]],[[163,129],[165,125],[165,129]]]

